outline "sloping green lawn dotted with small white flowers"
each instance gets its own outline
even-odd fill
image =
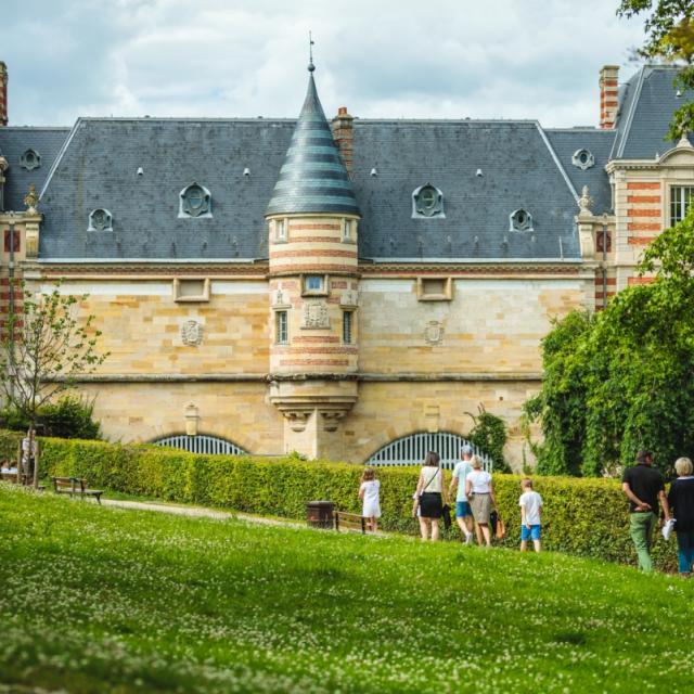
[[[0,691],[691,692],[694,582],[0,485]]]

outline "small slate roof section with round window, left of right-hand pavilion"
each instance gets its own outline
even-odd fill
[[[609,160],[616,132],[597,128],[549,129],[545,132],[576,191],[580,194],[583,185],[588,185],[593,198],[591,211],[594,215],[611,211],[612,190],[605,165]],[[594,166],[586,170],[573,163],[574,154],[582,149],[595,157]]]

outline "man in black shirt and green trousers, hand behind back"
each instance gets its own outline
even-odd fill
[[[652,465],[653,453],[639,451],[637,464],[627,467],[621,478],[621,489],[629,499],[629,534],[637,548],[639,568],[646,574],[653,570],[650,549],[658,518],[658,501],[663,505],[665,519],[670,519],[663,475]]]

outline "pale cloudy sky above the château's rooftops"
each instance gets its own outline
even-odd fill
[[[596,125],[597,73],[637,66],[618,0],[0,0],[10,125],[296,117],[308,31],[326,115]]]

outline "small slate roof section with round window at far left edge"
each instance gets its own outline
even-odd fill
[[[0,128],[0,154],[10,165],[4,185],[5,209],[23,210],[24,196],[31,183],[36,185],[37,191],[41,190],[69,130],[69,128]],[[41,166],[33,171],[27,171],[20,165],[20,157],[29,149],[41,156]]]

